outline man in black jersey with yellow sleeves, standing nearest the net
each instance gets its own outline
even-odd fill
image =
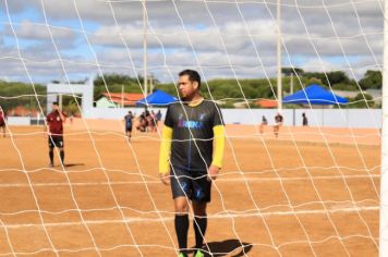
[[[160,146],[159,173],[163,184],[171,184],[180,257],[187,256],[190,200],[194,211],[194,256],[204,256],[201,249],[207,228],[206,206],[210,201],[211,180],[222,166],[225,147],[220,109],[204,100],[199,87],[196,71],[179,74],[179,93],[184,102],[169,106]]]

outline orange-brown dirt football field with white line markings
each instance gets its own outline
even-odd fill
[[[0,137],[0,256],[175,256],[157,134],[129,143],[120,122],[75,121],[66,166],[50,169],[43,127],[10,131]],[[376,256],[378,131],[257,131],[228,126],[208,208],[214,256]]]

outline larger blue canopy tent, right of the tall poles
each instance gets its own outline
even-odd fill
[[[319,85],[312,84],[304,88],[304,90],[295,91],[283,98],[283,103],[294,105],[344,105],[348,103],[348,99],[332,94],[332,91],[326,90]]]

